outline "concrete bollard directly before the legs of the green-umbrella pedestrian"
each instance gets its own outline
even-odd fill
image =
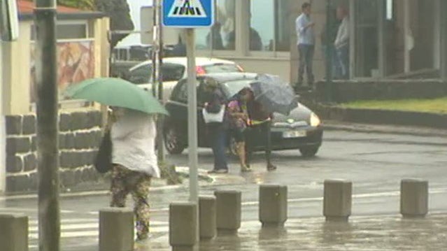
[[[99,210],[99,251],[134,250],[134,211],[130,208]]]

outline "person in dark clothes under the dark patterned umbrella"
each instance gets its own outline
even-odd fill
[[[247,101],[248,129],[246,129],[246,164],[250,166],[251,155],[256,141],[262,140],[265,149],[267,171],[275,171],[276,166],[271,163],[271,119],[273,115],[267,112],[262,104],[255,100],[253,92]],[[260,137],[262,136],[262,137]]]

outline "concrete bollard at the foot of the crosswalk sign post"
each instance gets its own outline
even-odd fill
[[[192,251],[197,243],[197,204],[169,205],[169,244],[173,251]]]

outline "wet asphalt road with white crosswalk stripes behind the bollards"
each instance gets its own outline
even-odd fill
[[[241,190],[242,220],[256,222],[258,184],[288,185],[289,217],[320,219],[322,182],[341,178],[353,181],[353,217],[371,217],[397,215],[400,180],[423,178],[430,182],[430,212],[447,213],[446,146],[447,138],[435,136],[327,131],[317,157],[301,158],[298,150],[275,152],[273,158],[278,170],[267,172],[263,155],[259,153],[255,156],[253,173],[244,174],[239,173],[239,165],[233,160],[231,173],[219,175],[215,185],[201,187],[201,194],[213,194],[216,189]],[[211,151],[200,151],[200,168],[211,169],[212,160]],[[169,162],[187,166],[187,153],[169,156]],[[155,238],[166,238],[169,203],[187,198],[187,187],[152,192],[150,203]],[[97,211],[108,205],[108,196],[64,198],[61,204],[63,250],[80,245],[85,246],[84,250],[92,250],[87,247],[97,243]],[[0,213],[30,216],[31,250],[36,250],[36,210],[35,199],[0,201]],[[257,229],[259,231],[259,227]]]

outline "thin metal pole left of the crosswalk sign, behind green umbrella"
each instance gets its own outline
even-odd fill
[[[163,65],[163,26],[162,26],[162,3],[160,0],[155,0],[154,3],[157,3],[155,5],[155,8],[157,9],[157,54],[158,54],[158,64],[157,64],[157,82],[158,82],[158,99],[159,101],[164,104],[163,99],[163,71],[162,71],[162,65]],[[159,116],[157,120],[157,145],[159,145],[158,151],[157,151],[157,158],[158,162],[164,162],[164,141],[163,141],[163,116]]]

